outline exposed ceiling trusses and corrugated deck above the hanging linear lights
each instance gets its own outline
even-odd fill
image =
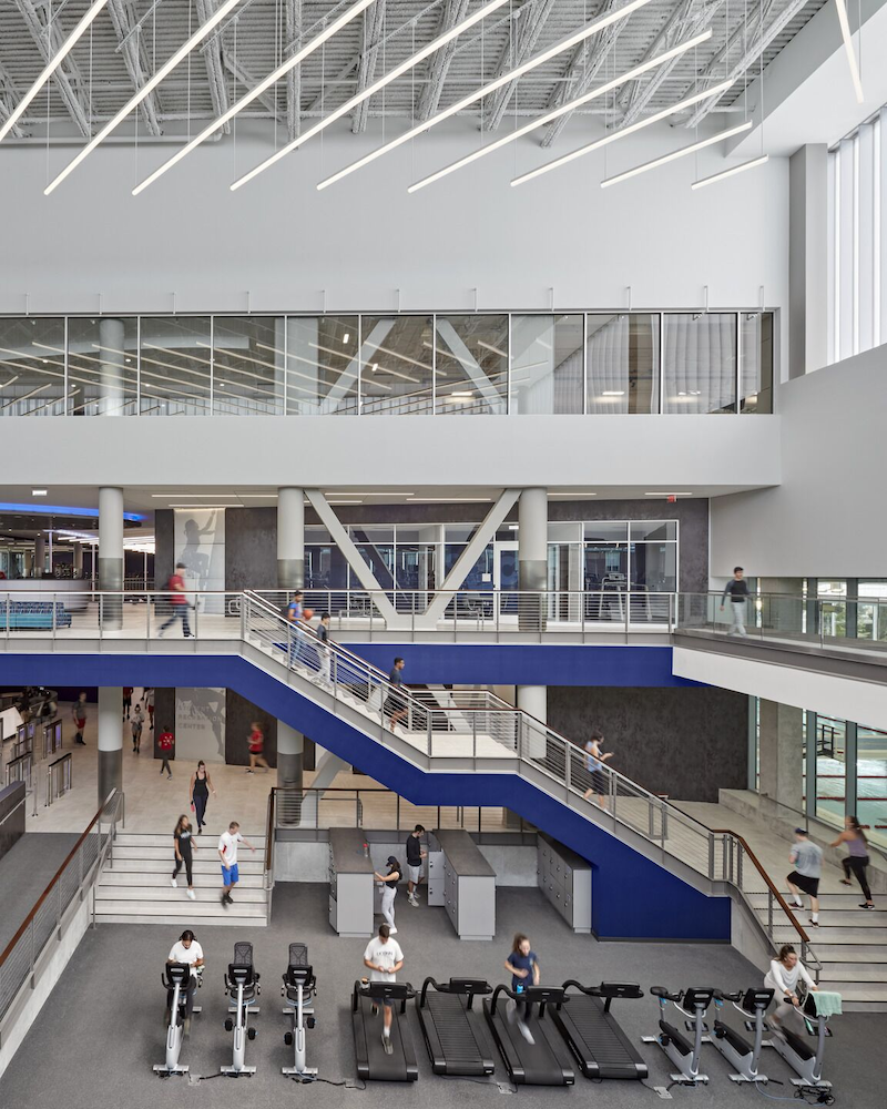
[[[7,142],[73,142],[93,134],[221,0],[108,0]],[[350,0],[353,2],[353,0]],[[285,123],[287,141],[477,11],[483,0],[375,0],[328,42],[266,90],[238,119]],[[588,21],[628,0],[511,0],[481,24],[358,105],[351,131],[381,116],[417,123],[508,73]],[[0,2],[0,121],[33,83],[92,0]],[[744,110],[746,83],[757,77],[823,7],[825,0],[651,0],[573,50],[511,81],[460,114],[485,131],[512,118],[532,119],[612,81],[700,31],[712,38],[614,94],[561,116],[539,139],[550,146],[575,114],[625,126],[662,111],[725,77],[732,87],[675,123],[695,126],[710,112]],[[349,0],[243,0],[203,45],[144,98],[121,134],[175,140],[205,126],[285,58],[315,37]],[[747,18],[746,18],[747,17]],[[753,106],[753,105],[750,105]],[[397,124],[392,124],[397,126]],[[227,132],[231,124],[226,124]],[[573,126],[575,124],[573,123]],[[339,129],[340,130],[340,129]],[[435,132],[431,132],[435,134]]]

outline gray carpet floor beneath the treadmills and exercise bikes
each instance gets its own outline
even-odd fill
[[[740,988],[761,981],[753,967],[733,948],[686,944],[599,944],[574,936],[536,889],[498,891],[499,930],[493,943],[460,943],[442,909],[410,908],[398,897],[398,925],[406,966],[401,979],[420,985],[427,975],[479,975],[492,981],[504,978],[502,962],[516,929],[527,932],[539,953],[543,980],[578,977],[589,983],[604,978],[628,979],[649,987],[722,985]],[[419,1081],[412,1085],[368,1083],[366,1090],[329,1085],[300,1086],[281,1075],[292,1064],[283,1042],[287,1027],[281,1015],[281,976],[287,945],[304,940],[318,977],[317,1027],[308,1032],[308,1061],[332,1082],[356,1082],[349,993],[363,973],[365,942],[339,939],[328,927],[327,887],[279,884],[274,894],[273,922],[267,929],[204,928],[207,970],[197,998],[203,1013],[194,1018],[191,1040],[182,1061],[191,1078],[159,1079],[152,1065],[163,1061],[162,1016],[164,991],[160,977],[164,959],[180,929],[163,925],[103,925],[84,937],[39,1020],[0,1079],[0,1105],[14,1109],[154,1109],[156,1106],[212,1107],[212,1109],[278,1109],[289,1102],[332,1109],[354,1106],[422,1106],[443,1103],[482,1109],[500,1103],[496,1079],[507,1081],[502,1066],[487,1083],[439,1078],[430,1072],[418,1020],[409,1011]],[[182,927],[187,926],[183,906]],[[254,944],[255,965],[262,975],[262,1011],[254,1018],[258,1038],[247,1046],[247,1062],[258,1068],[252,1079],[212,1078],[231,1060],[231,1035],[223,1028],[226,998],[222,976],[235,939]],[[640,1041],[656,1030],[659,1005],[646,996],[625,1001],[618,1016],[630,1037]],[[838,1105],[850,1109],[884,1109],[884,1045],[887,1015],[847,1014],[835,1018],[835,1036],[827,1046],[826,1072],[835,1083]],[[655,1046],[642,1047],[650,1066],[650,1085],[665,1085],[669,1061]],[[675,1102],[694,1107],[763,1105],[766,1098],[728,1078],[725,1060],[705,1048],[708,1087],[674,1088]],[[773,1051],[765,1052],[766,1071],[788,1083],[792,1074]],[[198,1076],[205,1076],[196,1082]],[[771,1085],[771,1097],[793,1098],[789,1085]],[[564,1106],[600,1101],[613,1109],[660,1103],[657,1096],[636,1082],[591,1083],[578,1077],[571,1089],[521,1088],[521,1101]],[[795,1101],[795,1105],[799,1102]]]

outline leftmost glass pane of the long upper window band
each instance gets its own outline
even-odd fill
[[[64,416],[64,319],[0,318],[0,416]]]

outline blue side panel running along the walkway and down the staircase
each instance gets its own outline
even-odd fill
[[[7,655],[0,674],[3,684],[227,686],[414,804],[502,805],[572,847],[594,868],[600,938],[730,942],[730,898],[706,897],[517,775],[426,773],[237,655]]]

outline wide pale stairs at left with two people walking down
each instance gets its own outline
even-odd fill
[[[241,845],[241,879],[223,908],[222,873],[215,835],[203,835],[194,852],[194,893],[185,891],[184,867],[179,887],[170,885],[173,869],[172,836],[120,832],[114,844],[113,866],[105,867],[95,887],[95,919],[103,924],[254,925],[268,923],[265,889],[265,836],[247,836],[255,854]]]

